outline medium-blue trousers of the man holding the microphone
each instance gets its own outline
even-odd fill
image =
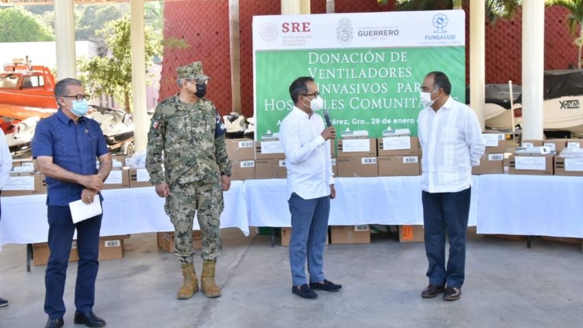
[[[292,236],[289,237],[289,265],[292,267],[292,285],[306,281],[305,264],[308,262],[310,283],[324,280],[324,244],[328,232],[330,197],[303,199],[296,193],[289,197],[292,213]]]

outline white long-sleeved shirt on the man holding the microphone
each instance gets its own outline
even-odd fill
[[[311,117],[298,107],[287,114],[279,128],[279,138],[285,152],[287,192],[303,199],[330,195],[334,183],[330,140],[322,138],[324,120],[314,113]]]

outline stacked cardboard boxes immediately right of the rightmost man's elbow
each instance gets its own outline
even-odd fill
[[[472,174],[504,173],[504,153],[506,152],[504,133],[482,133],[482,136],[486,142],[486,151],[480,159],[480,166],[472,168]]]

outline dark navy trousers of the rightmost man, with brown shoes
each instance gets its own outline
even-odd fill
[[[471,188],[457,193],[423,191],[425,252],[429,261],[427,276],[432,285],[461,288],[465,277],[465,241],[470,215]],[[445,269],[445,232],[450,240],[450,254]]]

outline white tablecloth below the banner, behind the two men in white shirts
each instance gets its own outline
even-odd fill
[[[338,177],[331,226],[423,224],[421,177]],[[474,176],[469,226],[476,226],[479,177]],[[285,179],[248,180],[243,186],[250,226],[291,226]]]

